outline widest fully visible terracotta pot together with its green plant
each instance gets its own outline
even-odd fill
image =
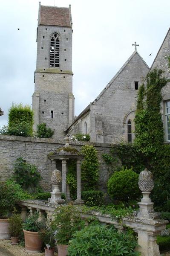
[[[38,221],[38,212],[34,212],[23,223],[25,249],[27,253],[40,253],[43,241],[39,237],[39,231],[43,228],[43,221]]]

